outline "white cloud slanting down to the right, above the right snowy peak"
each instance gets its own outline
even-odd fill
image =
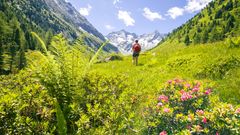
[[[150,21],[154,21],[155,19],[164,20],[164,18],[157,12],[152,12],[149,8],[143,9],[143,16]]]

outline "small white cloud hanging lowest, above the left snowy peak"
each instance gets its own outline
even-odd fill
[[[118,11],[118,19],[122,20],[126,26],[134,26],[135,20],[130,16],[131,13],[127,11]]]

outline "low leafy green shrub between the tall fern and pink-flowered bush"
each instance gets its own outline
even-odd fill
[[[86,91],[80,101],[82,116],[77,125],[80,134],[130,133],[134,125],[137,100],[122,76],[105,77],[90,74],[84,77]]]

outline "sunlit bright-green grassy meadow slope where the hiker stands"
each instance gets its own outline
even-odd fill
[[[232,60],[232,57],[236,59]],[[215,92],[223,100],[240,103],[238,60],[240,49],[229,48],[225,42],[189,47],[165,42],[151,52],[141,54],[140,65],[137,67],[132,65],[129,56],[123,61],[95,64],[93,72],[110,76],[123,74],[140,95],[154,95],[169,79],[203,80],[214,83]],[[199,73],[205,76],[200,76]]]

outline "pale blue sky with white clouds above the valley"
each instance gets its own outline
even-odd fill
[[[104,35],[125,29],[136,34],[171,32],[211,0],[66,0]]]

